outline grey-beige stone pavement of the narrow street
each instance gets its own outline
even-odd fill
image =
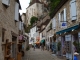
[[[29,51],[25,53],[25,56],[23,57],[23,60],[65,60],[58,58],[55,55],[52,55],[49,51],[41,51],[40,49],[31,48]]]

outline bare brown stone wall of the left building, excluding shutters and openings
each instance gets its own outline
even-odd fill
[[[0,0],[0,60],[4,60],[2,51],[2,28],[5,29],[4,42],[9,39],[12,42],[12,33],[18,35],[18,22],[15,22],[15,0],[10,0],[10,6],[5,7]]]

